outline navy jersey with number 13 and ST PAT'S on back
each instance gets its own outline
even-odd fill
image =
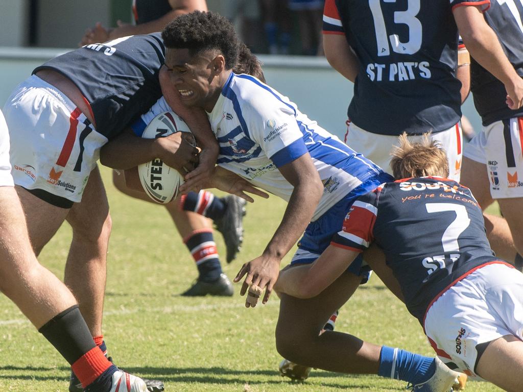
[[[382,135],[451,128],[461,118],[452,8],[489,0],[327,0],[324,34],[345,34],[359,59],[348,117]]]

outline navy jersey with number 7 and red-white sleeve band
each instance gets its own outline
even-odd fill
[[[470,190],[439,177],[387,182],[358,198],[332,245],[362,251],[373,241],[422,325],[438,294],[494,256]]]

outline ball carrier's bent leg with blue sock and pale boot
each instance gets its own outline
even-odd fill
[[[448,390],[460,374],[434,358],[368,343],[348,333],[321,333],[325,320],[347,301],[360,281],[360,277],[347,272],[314,298],[282,295],[276,326],[278,352],[303,366],[347,374],[378,374],[412,383],[415,390]]]

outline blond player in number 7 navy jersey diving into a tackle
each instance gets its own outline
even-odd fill
[[[445,152],[428,137],[411,144],[404,134],[400,143],[391,162],[396,181],[359,197],[322,256],[281,271],[275,290],[325,299],[360,252],[377,244],[385,254],[379,262],[397,280],[391,288],[439,358],[472,379],[520,390],[523,274],[494,256],[472,193],[445,178]]]

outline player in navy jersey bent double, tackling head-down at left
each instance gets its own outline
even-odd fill
[[[96,162],[100,147],[161,96],[158,75],[163,62],[158,33],[87,45],[37,67],[4,106],[15,188],[28,217],[32,246],[38,254],[65,220],[71,224],[65,283],[103,347],[111,218]],[[206,176],[205,167],[215,162],[217,146],[207,119],[202,119],[204,123],[187,120],[208,156],[200,154],[199,167],[190,175],[203,170],[200,174]],[[206,132],[209,136],[203,137]],[[141,163],[162,157],[179,170],[197,161],[197,149],[178,134],[141,141],[128,146],[126,153]]]

